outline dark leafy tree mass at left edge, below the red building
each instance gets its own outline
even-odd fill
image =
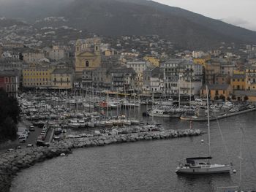
[[[17,137],[17,123],[20,120],[20,107],[17,99],[9,97],[0,89],[0,140]]]

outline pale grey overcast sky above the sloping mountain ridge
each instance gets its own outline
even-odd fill
[[[154,0],[256,31],[256,0]]]

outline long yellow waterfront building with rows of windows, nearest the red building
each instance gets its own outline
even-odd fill
[[[50,87],[50,74],[52,72],[53,67],[49,64],[30,64],[27,68],[22,69],[23,87]]]

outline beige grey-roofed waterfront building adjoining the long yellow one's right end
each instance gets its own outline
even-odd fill
[[[73,71],[72,69],[54,69],[50,75],[51,87],[56,89],[72,89]]]

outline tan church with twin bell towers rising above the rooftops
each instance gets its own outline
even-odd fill
[[[83,70],[93,70],[101,64],[100,39],[78,39],[75,46],[75,77],[82,79]]]

